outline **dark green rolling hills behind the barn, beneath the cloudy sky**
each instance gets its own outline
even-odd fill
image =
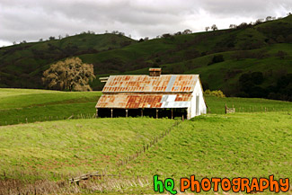
[[[160,66],[164,74],[199,74],[205,89],[228,96],[292,100],[292,15],[229,30],[176,34],[138,42],[82,34],[2,48],[0,86],[43,88],[40,77],[50,63],[78,56],[93,63],[94,90],[102,89],[100,76],[148,74],[148,67]]]

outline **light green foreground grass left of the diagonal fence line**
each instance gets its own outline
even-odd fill
[[[14,179],[54,179],[111,171],[173,120],[93,119],[0,127],[0,170]]]

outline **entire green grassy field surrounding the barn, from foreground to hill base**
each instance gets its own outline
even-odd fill
[[[34,114],[67,117],[82,111],[94,113],[101,95],[22,89],[0,92],[2,124],[16,116],[31,119]],[[190,174],[198,179],[292,177],[291,102],[205,99],[210,113],[181,122],[145,153],[121,166],[120,160],[135,155],[170,129],[174,120],[58,118],[4,125],[0,127],[0,194],[7,189],[15,193],[22,189],[24,194],[34,193],[34,189],[41,194],[153,193],[154,174],[175,180]],[[225,104],[234,106],[236,113],[224,114]],[[122,177],[89,181],[81,188],[67,184],[68,177],[104,170]]]

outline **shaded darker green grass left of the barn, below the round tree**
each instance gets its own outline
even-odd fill
[[[101,92],[58,92],[0,88],[0,125],[62,120],[95,113]]]

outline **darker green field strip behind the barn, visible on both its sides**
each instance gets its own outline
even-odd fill
[[[101,92],[58,92],[0,88],[0,126],[35,121],[93,118]],[[224,113],[225,104],[237,112],[291,111],[291,102],[205,96],[208,112]]]

